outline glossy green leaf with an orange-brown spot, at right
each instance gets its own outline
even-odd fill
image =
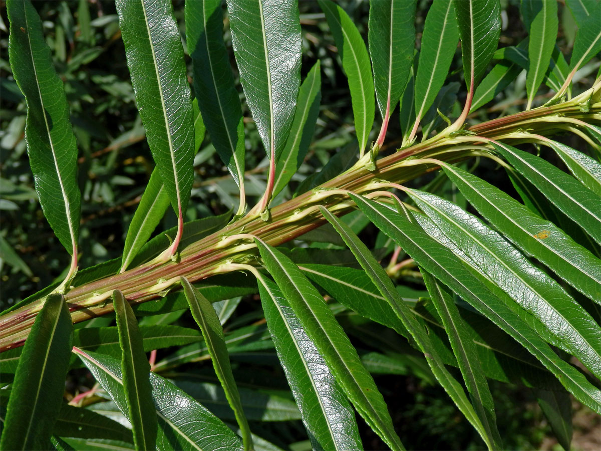
[[[599,298],[601,261],[590,251],[495,186],[460,168],[443,169],[475,209],[517,247],[591,299]]]

